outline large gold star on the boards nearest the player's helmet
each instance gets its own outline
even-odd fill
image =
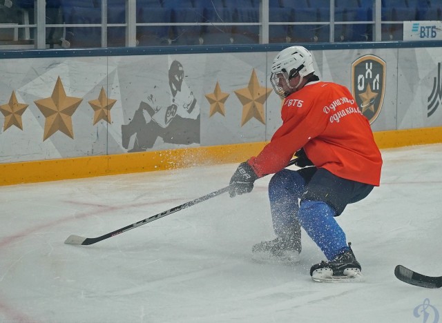
[[[253,69],[249,86],[235,91],[242,104],[241,126],[244,126],[253,117],[265,124],[264,103],[270,93],[271,88],[260,86],[255,69]]]

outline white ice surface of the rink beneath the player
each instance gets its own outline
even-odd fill
[[[237,164],[0,187],[0,322],[425,322],[442,290],[442,145],[383,150],[381,186],[338,221],[365,281],[311,281],[325,258],[303,235],[300,264],[258,264],[273,238],[267,184],[223,194],[91,246],[98,237],[229,184]],[[420,312],[419,312],[420,311]],[[434,321],[436,322],[436,321]]]

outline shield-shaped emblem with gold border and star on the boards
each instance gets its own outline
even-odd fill
[[[381,112],[385,95],[385,61],[365,55],[352,63],[352,95],[372,124]]]

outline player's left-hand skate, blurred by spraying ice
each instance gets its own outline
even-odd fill
[[[252,249],[252,259],[257,262],[294,264],[299,262],[301,252],[300,238],[281,239],[255,244]]]

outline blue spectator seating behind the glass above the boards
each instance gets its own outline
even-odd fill
[[[173,23],[173,26],[137,26],[137,40],[142,46],[259,42],[260,0],[135,1],[137,23]],[[334,1],[334,41],[373,40],[373,1]],[[24,9],[35,6],[34,0],[14,3]],[[125,46],[126,0],[107,0],[107,3],[108,24],[122,25],[108,26],[108,46]],[[99,0],[47,0],[46,23],[101,24],[101,10]],[[328,42],[330,13],[329,0],[269,0],[269,42]],[[401,40],[401,21],[441,18],[441,0],[381,0],[381,20],[385,21],[381,39]],[[47,30],[49,43],[59,41],[63,28]],[[101,27],[68,27],[66,39],[74,48],[99,47]]]

